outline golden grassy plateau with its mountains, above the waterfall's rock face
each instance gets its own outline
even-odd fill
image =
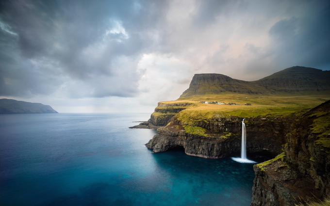
[[[232,79],[222,74],[195,74],[189,88],[178,100],[159,102],[148,121],[130,128],[165,127],[180,111],[199,107],[201,100],[270,106],[279,106],[286,102],[296,106],[307,105],[305,108],[311,108],[329,99],[328,82],[330,82],[330,71],[303,66],[293,66],[257,81]],[[307,95],[313,95],[314,99],[305,101]],[[288,99],[287,96],[293,98]],[[303,108],[297,107],[292,111],[299,109]],[[242,115],[242,118],[245,117]]]

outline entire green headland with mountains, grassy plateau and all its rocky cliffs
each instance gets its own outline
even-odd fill
[[[254,165],[251,206],[322,200],[330,196],[329,81],[329,71],[300,66],[257,81],[197,74],[178,100],[158,104],[146,124],[159,128],[146,146],[232,156],[245,118],[247,152],[276,156]]]

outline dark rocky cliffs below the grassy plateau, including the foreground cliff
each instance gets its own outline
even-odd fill
[[[146,144],[153,152],[182,148],[187,155],[224,158],[240,151],[242,117],[179,112]],[[254,166],[251,206],[290,206],[330,195],[330,101],[288,115],[245,119],[247,152],[277,158]],[[189,125],[189,126],[187,126]]]

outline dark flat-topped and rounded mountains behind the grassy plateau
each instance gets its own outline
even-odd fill
[[[180,97],[221,92],[246,94],[297,93],[330,90],[330,71],[293,66],[256,81],[232,79],[222,74],[195,74]]]

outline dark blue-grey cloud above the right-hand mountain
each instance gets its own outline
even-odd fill
[[[300,18],[291,17],[277,22],[269,31],[273,37],[275,61],[294,60],[298,65],[329,70],[330,5],[318,13]]]

